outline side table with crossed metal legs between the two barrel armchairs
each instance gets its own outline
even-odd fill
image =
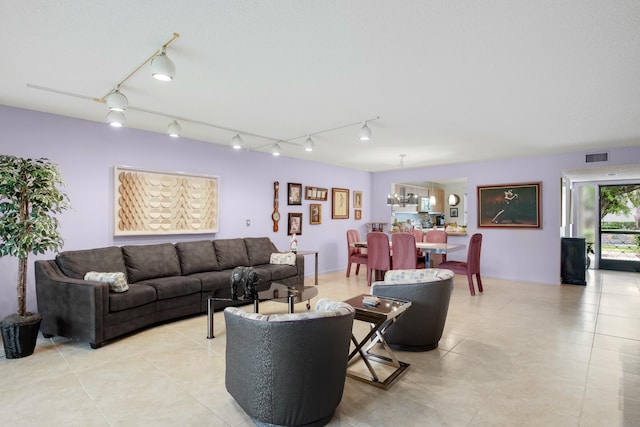
[[[369,322],[371,324],[371,330],[364,338],[362,338],[362,340],[360,340],[360,342],[358,342],[355,335],[351,334],[351,341],[355,345],[355,349],[351,354],[349,354],[349,366],[358,360],[356,356],[360,356],[359,358],[362,359],[367,366],[371,377],[368,378],[360,373],[349,370],[347,370],[347,376],[387,390],[410,365],[398,360],[391,350],[391,347],[389,347],[385,341],[383,334],[389,326],[395,323],[395,321],[404,314],[409,307],[411,307],[411,302],[393,298],[378,297],[380,300],[380,304],[378,306],[365,306],[363,304],[363,298],[370,296],[371,295],[367,294],[358,295],[357,297],[346,300],[345,303],[351,305],[355,309],[355,320]],[[371,340],[371,342],[363,349],[369,340]],[[382,345],[387,356],[370,352],[370,350],[378,343]],[[372,362],[382,363],[396,369],[389,374],[387,378],[382,380],[374,369]]]

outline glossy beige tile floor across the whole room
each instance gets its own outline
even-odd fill
[[[323,275],[319,289],[343,300],[367,292],[366,277]],[[253,425],[225,391],[215,320],[214,340],[202,315],[99,350],[41,338],[30,357],[1,357],[1,424]],[[589,271],[586,287],[486,278],[476,297],[458,276],[440,347],[398,355],[411,367],[388,391],[347,378],[330,425],[638,426],[640,275]]]

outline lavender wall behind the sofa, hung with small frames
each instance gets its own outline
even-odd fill
[[[135,129],[114,129],[106,124],[71,119],[0,106],[0,153],[23,157],[47,157],[58,163],[72,209],[60,217],[65,239],[63,250],[109,245],[144,244],[209,238],[268,236],[280,250],[289,247],[286,235],[288,212],[303,213],[299,249],[320,251],[321,273],[346,268],[346,230],[364,223],[371,198],[370,174],[313,161],[276,158],[269,154],[235,151],[185,138],[173,139]],[[115,165],[155,171],[179,171],[220,177],[220,232],[213,235],[114,237],[113,167]],[[280,182],[280,231],[272,230],[273,182]],[[318,187],[363,191],[363,219],[332,220],[331,204],[322,204],[322,224],[309,225],[309,201],[287,206],[287,182]],[[329,198],[330,199],[330,198]],[[251,220],[247,227],[245,221]],[[30,258],[28,309],[35,310],[33,260]],[[307,276],[313,257],[305,257]],[[0,258],[0,318],[16,309],[17,261]]]

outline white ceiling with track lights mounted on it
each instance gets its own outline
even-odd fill
[[[285,156],[382,171],[401,154],[417,167],[640,144],[637,0],[0,0],[0,10],[0,104],[105,122],[90,98],[175,32],[174,81],[141,69],[121,88],[130,105],[299,144],[355,124],[314,136],[313,153],[284,144]],[[166,117],[125,114],[129,127],[166,132]],[[377,116],[371,141],[358,141],[357,123]],[[233,136],[181,125],[188,138]]]

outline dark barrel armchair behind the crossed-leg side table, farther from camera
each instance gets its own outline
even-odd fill
[[[371,294],[411,301],[411,307],[384,334],[394,349],[427,351],[438,347],[453,290],[451,270],[390,270],[375,282]]]

